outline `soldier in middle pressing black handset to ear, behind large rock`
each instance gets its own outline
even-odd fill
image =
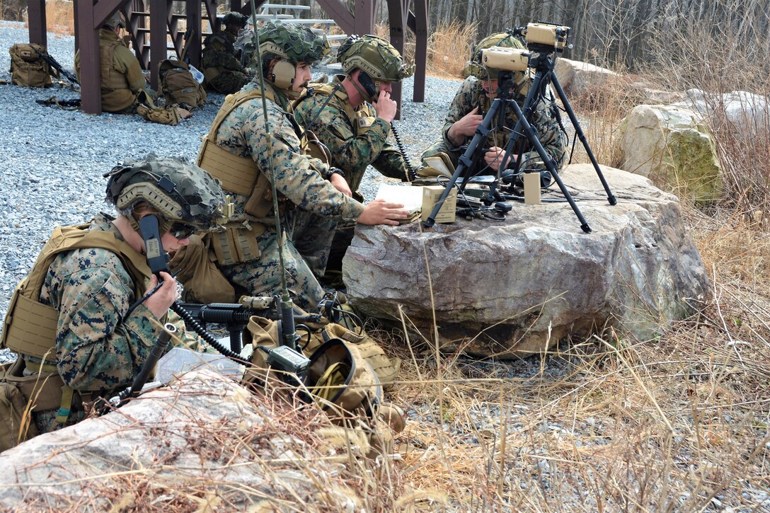
[[[410,179],[403,156],[387,138],[398,108],[390,98],[391,83],[411,76],[414,66],[404,65],[397,49],[376,35],[350,36],[340,45],[337,60],[346,75],[313,86],[296,102],[294,114],[300,125],[329,149],[330,166],[338,168],[334,172],[346,182],[338,189],[363,201],[357,191],[367,166],[390,178]],[[367,102],[372,102],[373,107]],[[330,250],[332,269],[341,270],[355,223],[337,227],[333,219],[324,220],[300,210],[293,214],[290,229],[294,246],[316,277],[323,277]]]

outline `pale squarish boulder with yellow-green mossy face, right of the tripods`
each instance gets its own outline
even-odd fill
[[[721,166],[703,117],[681,106],[640,105],[623,122],[621,168],[695,203],[721,196]]]

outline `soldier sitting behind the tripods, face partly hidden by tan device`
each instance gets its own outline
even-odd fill
[[[473,138],[476,127],[484,119],[484,114],[490,108],[497,91],[497,77],[500,70],[487,68],[481,63],[480,58],[480,50],[492,46],[524,48],[516,36],[507,32],[489,35],[474,47],[474,52],[471,54],[465,69],[467,79],[457,91],[449,107],[449,112],[444,118],[443,137],[423,153],[423,159],[438,153],[447,153],[452,164],[457,167],[457,161],[465,151],[464,145]],[[514,98],[521,107],[524,105],[524,98],[532,78],[527,74],[516,72],[514,80],[517,84]],[[567,137],[557,122],[556,109],[557,106],[553,100],[541,101],[534,109],[534,115],[530,122],[537,132],[537,139],[540,140],[544,149],[551,154],[557,169],[560,169],[564,165],[566,157]],[[487,151],[484,153],[484,159],[480,161],[482,169],[477,169],[476,172],[494,174],[497,173],[498,169],[513,168],[517,164],[515,159],[519,154],[521,154],[521,162],[518,163],[518,169],[545,169],[541,157],[530,146],[526,136],[520,136],[517,139],[516,146],[511,153],[511,160],[507,163],[501,162],[503,149],[510,139],[508,134],[514,129],[517,122],[516,114],[511,110],[507,112],[506,117],[505,129],[497,130],[487,138]],[[493,126],[493,128],[495,127]],[[547,174],[544,177],[544,183],[547,184],[550,182],[550,173],[544,173]]]

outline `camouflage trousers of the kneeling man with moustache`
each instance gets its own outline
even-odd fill
[[[258,259],[222,266],[219,270],[236,287],[236,293],[249,296],[280,294],[280,240],[273,230],[267,230],[259,236],[257,243]],[[283,265],[286,269],[286,286],[294,293],[297,306],[303,310],[316,311],[318,303],[323,299],[323,287],[288,238],[283,248]]]

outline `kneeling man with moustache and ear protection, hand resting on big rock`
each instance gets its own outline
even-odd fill
[[[199,154],[199,165],[216,178],[221,177],[223,188],[235,194],[234,220],[237,224],[232,223],[231,240],[240,240],[246,245],[256,236],[256,250],[240,247],[217,250],[218,266],[236,290],[250,295],[280,293],[278,252],[283,247],[286,281],[296,294],[296,303],[303,309],[316,310],[324,290],[292,243],[296,212],[304,210],[323,218],[367,224],[397,224],[397,219],[403,219],[407,213],[392,203],[373,202],[363,206],[330,183],[330,179],[340,179],[338,173],[333,173],[333,169],[320,159],[307,156],[303,129],[290,113],[290,102],[300,96],[310,79],[310,63],[320,59],[325,49],[323,40],[309,28],[280,22],[266,23],[259,31],[265,91],[260,91],[255,79],[238,95],[229,97],[232,102],[240,99],[243,102],[234,108],[228,102],[223,105]],[[263,117],[263,96],[269,133]],[[216,141],[216,147],[210,143],[212,140]],[[281,243],[274,229],[272,203],[266,206],[263,217],[249,213],[246,204],[253,196],[253,190],[238,193],[235,186],[228,185],[226,179],[232,166],[216,165],[217,161],[228,158],[219,153],[221,149],[228,155],[239,157],[239,166],[244,162],[245,166],[256,163],[249,173],[258,173],[273,183],[281,199],[280,218],[289,238],[285,244]],[[210,155],[217,158],[209,159]],[[245,181],[253,183],[256,180],[251,177]],[[216,246],[216,240],[213,244]],[[241,253],[242,257],[236,259],[241,261],[223,263],[219,256],[224,253]],[[244,257],[245,253],[250,256]]]

